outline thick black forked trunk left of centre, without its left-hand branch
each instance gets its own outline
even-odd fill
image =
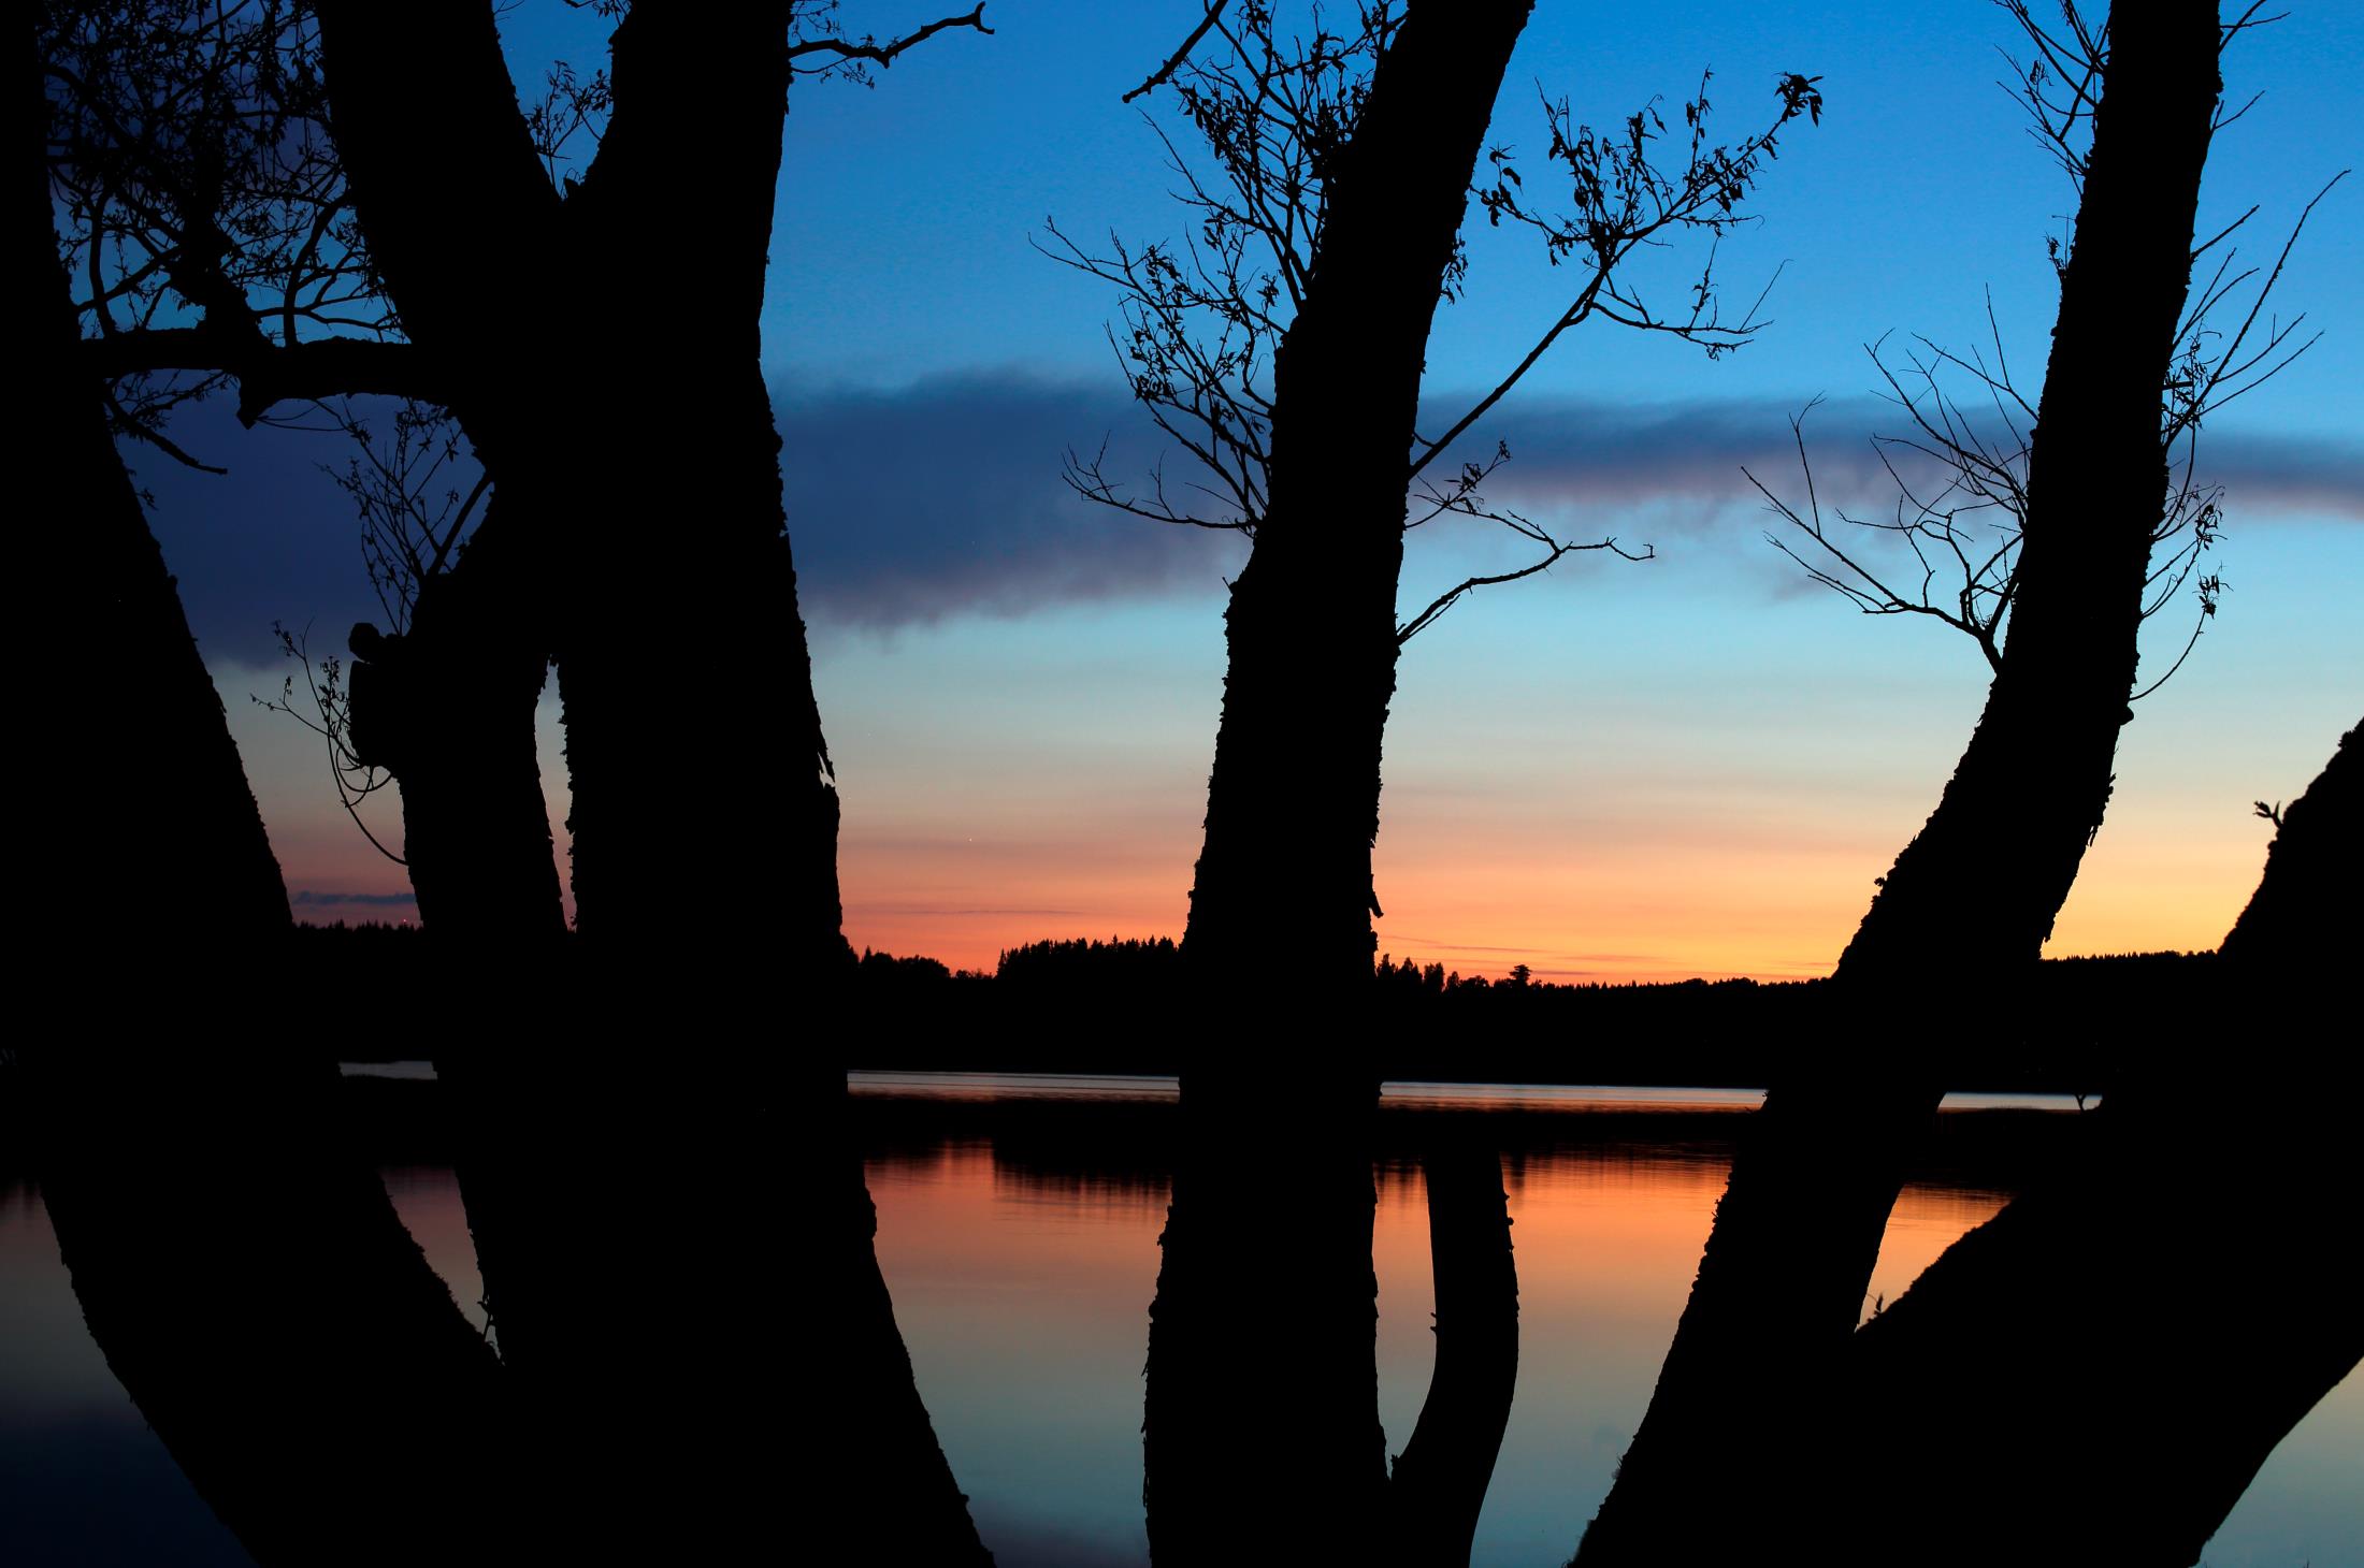
[[[752,971],[735,959],[764,945],[771,982],[813,987],[804,1006],[827,1018],[830,980],[853,963],[839,933],[837,793],[756,359],[782,116],[799,59],[886,64],[943,26],[981,26],[981,14],[894,45],[799,43],[797,19],[794,5],[631,9],[612,38],[600,151],[563,196],[515,109],[489,9],[421,19],[333,7],[324,71],[357,210],[404,328],[461,361],[447,401],[541,571],[534,602],[565,697],[584,935],[645,956],[688,940],[683,916],[695,912],[697,940],[712,921],[730,959],[719,966],[726,997],[747,994]],[[421,80],[442,83],[433,104],[418,99]],[[681,213],[700,215],[707,248],[695,257],[678,246]],[[551,255],[596,264],[553,274],[548,312],[520,321],[485,288],[485,248],[518,269]],[[683,331],[686,288],[709,328]],[[548,385],[582,397],[553,401]],[[475,553],[492,527],[487,517]],[[778,680],[778,708],[747,701],[740,680],[754,671]],[[693,753],[652,744],[667,732],[702,741]],[[742,812],[716,810],[726,784],[704,746],[726,737],[738,765],[775,791],[754,838]],[[780,1448],[749,1440],[733,1417],[740,1391],[787,1398],[804,1386],[797,1436],[820,1455],[808,1474],[832,1518],[858,1509],[865,1528],[915,1556],[979,1561],[910,1389],[870,1252],[868,1195],[858,1169],[842,1169],[842,1051],[799,1041],[797,1077],[754,1105],[716,1103],[721,1070],[704,1053],[584,1091],[593,1108],[645,1100],[660,1112],[657,1171],[636,1204],[650,1223],[681,1228],[707,1315],[695,1377],[636,1381],[608,1412],[584,1407],[582,1379],[662,1299],[605,1289],[612,1244],[553,1185],[579,1133],[532,1117],[532,1084],[520,1098],[511,1070],[478,1065],[470,1093],[489,1122],[468,1197],[501,1237],[487,1244],[494,1311],[534,1339],[534,1386],[553,1412],[584,1415],[579,1431],[612,1431],[619,1417],[629,1431],[690,1433],[655,1459],[676,1483],[660,1497],[700,1497],[695,1537],[712,1549],[759,1537],[764,1476],[780,1464]],[[759,1105],[771,1115],[749,1124]],[[768,1155],[780,1143],[797,1152],[785,1171]],[[761,1240],[792,1202],[820,1209],[808,1275]],[[768,1318],[790,1280],[816,1318],[811,1339],[782,1337]],[[827,1346],[818,1372],[790,1360],[799,1341]],[[636,1528],[650,1547],[664,1537],[660,1511]]]

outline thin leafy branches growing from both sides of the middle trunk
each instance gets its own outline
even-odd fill
[[[1402,7],[1364,5],[1340,33],[1329,33],[1319,17],[1312,26],[1310,38],[1286,38],[1269,5],[1236,12],[1208,5],[1182,47],[1125,94],[1130,104],[1170,85],[1206,149],[1187,153],[1165,123],[1144,116],[1182,182],[1175,198],[1191,229],[1177,243],[1130,246],[1111,234],[1106,250],[1087,250],[1057,222],[1045,224],[1047,243],[1038,246],[1045,255],[1118,290],[1123,319],[1109,326],[1118,368],[1158,430],[1203,475],[1189,496],[1173,491],[1163,470],[1154,470],[1147,489],[1137,491],[1111,479],[1099,456],[1083,460],[1071,449],[1064,479],[1087,501],[1154,522],[1243,534],[1262,520],[1272,460],[1272,359],[1319,264],[1329,163],[1355,135],[1371,68],[1402,26]],[[1681,106],[1674,132],[1657,102],[1626,116],[1617,130],[1596,132],[1574,118],[1565,97],[1544,97],[1546,158],[1567,184],[1565,210],[1527,194],[1511,149],[1487,153],[1485,179],[1473,191],[1487,222],[1534,231],[1546,260],[1572,267],[1579,281],[1570,302],[1494,387],[1449,418],[1435,439],[1416,437],[1404,470],[1414,508],[1404,527],[1442,515],[1470,517],[1532,543],[1537,555],[1515,571],[1463,579],[1407,619],[1399,638],[1409,640],[1470,590],[1541,574],[1572,550],[1650,560],[1650,550],[1629,553],[1612,538],[1579,545],[1530,517],[1489,508],[1478,484],[1511,458],[1501,442],[1489,458],[1463,460],[1449,479],[1428,470],[1511,394],[1553,342],[1593,316],[1695,342],[1709,357],[1740,347],[1764,326],[1756,314],[1764,293],[1738,321],[1726,319],[1714,281],[1714,241],[1749,222],[1742,203],[1778,153],[1790,120],[1806,116],[1820,123],[1820,78],[1782,76],[1771,125],[1730,146],[1709,139],[1707,80],[1702,76],[1700,92]],[[1657,144],[1669,135],[1678,153],[1662,161]],[[1636,253],[1686,231],[1704,231],[1707,255],[1683,305],[1660,309],[1626,279],[1626,269]],[[1456,250],[1444,279],[1449,300],[1463,279],[1466,255]]]

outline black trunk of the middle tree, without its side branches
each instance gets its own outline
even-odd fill
[[[1371,989],[1371,843],[1428,328],[1530,0],[1416,5],[1329,175],[1274,354],[1269,508],[1225,612],[1229,673],[1182,952],[1199,1041],[1352,1039]],[[1286,954],[1317,1001],[1260,997]],[[1243,1070],[1201,1044],[1151,1306],[1149,1547],[1165,1568],[1378,1549],[1369,1119],[1355,1067]],[[1243,1164],[1253,1152],[1253,1167]]]

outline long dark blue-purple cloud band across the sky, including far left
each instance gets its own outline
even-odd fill
[[[1111,479],[1149,482],[1163,437],[1118,385],[972,371],[886,392],[782,385],[773,404],[801,609],[820,628],[1215,595],[1246,560],[1239,534],[1144,522],[1061,484],[1061,456],[1102,442]],[[1764,510],[1740,470],[1804,489],[1790,435],[1801,404],[1527,399],[1451,456],[1504,442],[1511,463],[1485,494],[1556,508],[1563,531],[1631,531],[1636,512],[1650,529],[1754,529]],[[1884,510],[1891,491],[1868,437],[1901,425],[1879,399],[1818,406],[1806,437],[1823,496]],[[314,652],[340,652],[352,621],[381,619],[352,503],[322,472],[345,460],[343,442],[239,430],[222,399],[182,413],[173,437],[232,470],[196,475],[125,449],[156,494],[151,522],[210,656],[279,668],[272,621],[310,623]],[[2364,444],[2227,430],[2203,437],[2201,458],[2227,486],[2234,531],[2279,515],[2364,520]],[[1165,477],[1182,496],[1189,458],[1170,458]]]

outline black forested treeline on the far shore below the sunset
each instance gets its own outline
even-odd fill
[[[312,930],[362,971],[416,952],[409,926]],[[853,973],[856,1067],[1165,1074],[1194,1044],[1173,937],[1026,942],[991,973],[863,952]],[[1915,1063],[1953,1089],[2102,1093],[2132,1060],[2187,1053],[2194,1070],[2222,1070],[2196,1027],[2217,1015],[2213,973],[2213,954],[2052,959],[2016,999],[1931,973],[1910,1004],[1842,1015],[1823,980],[1560,985],[1525,966],[1487,978],[1383,956],[1376,1006],[1359,1018],[1300,1023],[1303,1039],[1241,1020],[1236,1044],[1352,1058],[1388,1079],[1756,1089],[1797,1063],[1839,1072]],[[1286,1001],[1293,989],[1277,954],[1269,997]],[[383,1053],[416,1056],[402,1034],[390,1027]],[[371,1046],[345,1051],[381,1053]]]

